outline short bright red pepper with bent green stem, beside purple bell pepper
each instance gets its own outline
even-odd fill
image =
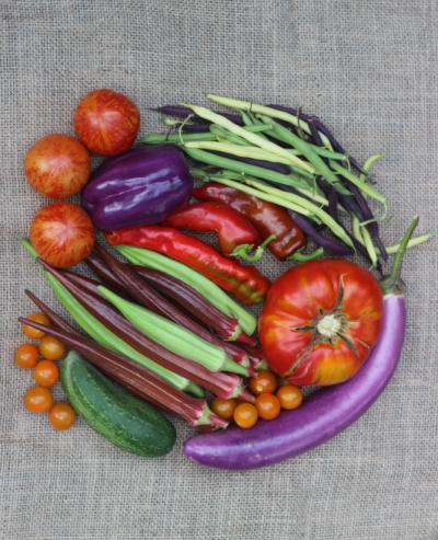
[[[254,251],[261,243],[255,227],[242,214],[222,203],[195,203],[173,214],[162,225],[216,232],[220,251],[227,256],[254,262],[263,255],[263,248]]]

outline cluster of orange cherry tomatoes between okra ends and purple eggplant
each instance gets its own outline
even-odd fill
[[[254,404],[216,398],[211,410],[221,418],[233,420],[239,427],[249,429],[258,418],[274,420],[281,409],[290,411],[302,402],[301,389],[293,384],[280,384],[272,371],[262,370],[251,377],[250,390],[255,395]]]

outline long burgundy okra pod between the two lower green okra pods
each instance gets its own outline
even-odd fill
[[[106,302],[106,300],[99,297],[99,292],[97,295],[95,294],[97,289],[93,291],[90,283],[90,287],[83,289],[83,279],[87,279],[83,276],[74,274],[73,272],[61,272],[50,267],[47,263],[45,263],[45,268],[56,277],[93,317],[139,353],[175,374],[200,384],[219,398],[228,399],[235,397],[243,401],[253,401],[250,392],[243,388],[242,379],[237,375],[221,372],[214,374],[200,364],[192,361],[188,358],[183,358],[147,337],[122,317],[108,302]],[[78,277],[82,279],[76,279]],[[31,297],[31,299],[33,298]],[[41,300],[38,300],[38,307],[43,312],[49,310],[49,308],[44,306]],[[47,312],[47,317],[50,320],[53,319],[53,315],[49,312]],[[56,314],[55,317],[58,318],[57,324],[59,324],[59,321],[62,321],[62,319]],[[64,328],[64,330],[66,330],[66,328]]]

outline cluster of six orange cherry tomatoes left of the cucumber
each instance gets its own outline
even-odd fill
[[[27,317],[41,324],[49,324],[44,313],[32,313]],[[24,394],[24,406],[31,413],[48,413],[48,421],[55,429],[64,430],[71,427],[76,414],[68,403],[55,403],[49,390],[59,380],[59,369],[56,360],[66,355],[66,346],[56,337],[46,335],[41,330],[23,324],[23,334],[32,340],[38,340],[38,345],[23,343],[15,352],[15,363],[19,367],[33,369],[36,386]]]

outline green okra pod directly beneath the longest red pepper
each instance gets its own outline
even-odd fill
[[[255,317],[243,309],[214,282],[203,276],[203,274],[161,253],[145,248],[134,248],[130,245],[115,245],[114,248],[132,264],[147,266],[148,268],[158,269],[177,277],[207,298],[222,313],[238,319],[240,328],[246,334],[251,335],[254,333],[257,325]]]

